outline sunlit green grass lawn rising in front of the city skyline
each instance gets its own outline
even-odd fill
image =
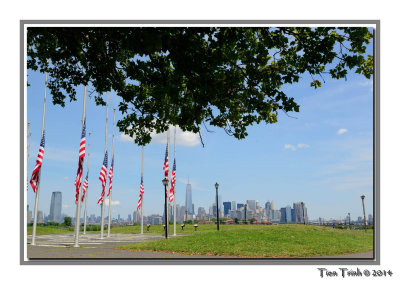
[[[124,228],[119,230],[128,230]],[[181,233],[180,228],[177,232]],[[221,225],[217,231],[215,225],[200,225],[194,232],[193,226],[187,225],[184,233],[190,235],[118,248],[242,257],[310,257],[373,249],[372,230],[365,233],[311,225]]]

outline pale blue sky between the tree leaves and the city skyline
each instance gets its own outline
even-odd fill
[[[27,111],[31,149],[29,177],[40,142],[43,111],[44,74],[28,70]],[[366,212],[372,213],[373,195],[373,92],[372,79],[350,72],[346,80],[325,76],[322,88],[309,86],[310,76],[284,90],[300,105],[299,113],[280,113],[278,123],[249,128],[245,140],[238,141],[223,130],[203,130],[205,147],[194,134],[178,130],[177,203],[184,205],[188,176],[193,203],[208,212],[215,200],[214,184],[220,184],[223,201],[257,200],[264,206],[273,200],[275,208],[304,201],[311,219],[340,218],[350,212],[362,215],[360,195],[365,194]],[[78,101],[66,107],[54,106],[48,94],[46,106],[46,150],[41,178],[39,209],[50,209],[53,191],[63,193],[63,213],[75,215],[74,179],[82,118],[83,87]],[[108,149],[112,144],[112,108],[119,99],[110,94]],[[90,137],[88,214],[100,215],[97,199],[101,192],[99,172],[104,154],[106,108],[95,106],[88,97],[87,131]],[[122,115],[116,111],[116,121]],[[163,211],[163,160],[166,134],[155,135],[145,147],[144,214]],[[173,129],[171,148],[173,153]],[[170,158],[172,160],[172,158]],[[86,175],[87,158],[84,175]],[[172,161],[171,161],[172,165]],[[137,206],[140,186],[141,148],[126,136],[115,134],[115,162],[112,215],[127,217]],[[108,186],[107,186],[108,187]],[[34,194],[27,193],[30,208]]]

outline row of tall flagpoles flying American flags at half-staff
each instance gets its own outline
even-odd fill
[[[33,192],[35,193],[35,207],[34,207],[34,218],[33,218],[33,230],[32,230],[32,245],[36,244],[36,226],[37,226],[37,212],[38,212],[38,202],[39,202],[39,190],[40,190],[40,176],[41,169],[43,163],[44,149],[45,149],[45,114],[46,114],[46,94],[47,94],[47,73],[45,79],[45,90],[44,90],[44,103],[43,103],[43,117],[42,117],[42,132],[41,132],[41,142],[39,146],[39,153],[36,159],[36,165],[33,169],[31,179],[29,184],[31,185]],[[107,186],[107,167],[108,167],[108,151],[107,151],[107,126],[108,126],[108,102],[109,102],[109,93],[107,92],[107,105],[106,105],[106,129],[105,129],[105,147],[104,147],[104,160],[103,165],[100,170],[99,179],[102,185],[102,191],[100,198],[97,201],[97,204],[101,203],[101,230],[100,230],[100,238],[104,238],[104,196],[105,190]],[[29,132],[29,123],[28,123],[28,161],[29,162],[29,149],[30,149],[30,136]],[[109,189],[107,193],[107,197],[109,197],[108,202],[108,232],[107,237],[110,237],[110,228],[111,228],[111,205],[112,205],[112,181],[114,176],[114,135],[115,135],[115,108],[114,108],[114,119],[113,119],[113,136],[112,136],[112,158],[111,158],[111,167],[108,175],[109,178]],[[169,179],[169,145],[170,145],[170,132],[168,129],[167,135],[167,146],[165,151],[165,160],[164,160],[164,176],[166,179]],[[90,146],[90,132],[89,132],[89,141],[88,141],[88,160],[87,160],[87,173],[84,182],[82,183],[83,177],[83,164],[86,155],[86,86],[84,87],[84,99],[83,99],[83,112],[82,112],[82,126],[81,126],[81,140],[79,146],[79,158],[78,158],[78,170],[75,179],[75,203],[76,203],[76,219],[75,219],[75,243],[74,247],[79,247],[79,228],[80,228],[80,214],[81,214],[81,203],[85,200],[85,210],[84,210],[84,234],[86,234],[86,218],[87,218],[87,197],[88,197],[88,184],[89,184],[89,146]],[[140,193],[139,193],[139,201],[137,205],[137,211],[140,210],[141,216],[141,234],[143,234],[143,195],[144,195],[144,183],[143,183],[143,155],[144,155],[144,147],[142,147],[142,165],[141,165],[141,183],[140,183]],[[169,221],[169,203],[174,202],[173,215],[174,215],[174,235],[176,235],[176,201],[175,201],[175,193],[176,193],[176,127],[174,131],[174,164],[171,173],[171,187],[166,188],[165,195],[169,198],[168,207],[165,215],[167,215],[167,220]],[[29,185],[28,185],[29,187]],[[169,191],[168,191],[169,189]],[[169,193],[168,193],[169,192]],[[166,230],[169,230],[169,225],[167,223]]]

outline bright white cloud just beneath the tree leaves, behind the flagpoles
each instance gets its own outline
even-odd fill
[[[120,140],[122,142],[133,142],[134,139],[128,135],[121,134]],[[174,127],[170,128],[170,143],[174,141]],[[157,134],[156,132],[151,133],[151,143],[154,144],[165,144],[167,143],[167,132]],[[200,144],[200,138],[197,134],[192,132],[184,132],[181,128],[176,128],[176,144],[182,146],[196,146]]]

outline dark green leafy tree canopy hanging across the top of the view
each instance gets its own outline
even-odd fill
[[[254,123],[277,122],[278,110],[299,112],[284,84],[302,74],[370,78],[367,28],[28,28],[28,68],[48,72],[53,103],[76,100],[91,85],[121,97],[122,132],[144,145],[169,125],[200,133],[202,123],[238,139]],[[318,88],[315,79],[311,86]]]

